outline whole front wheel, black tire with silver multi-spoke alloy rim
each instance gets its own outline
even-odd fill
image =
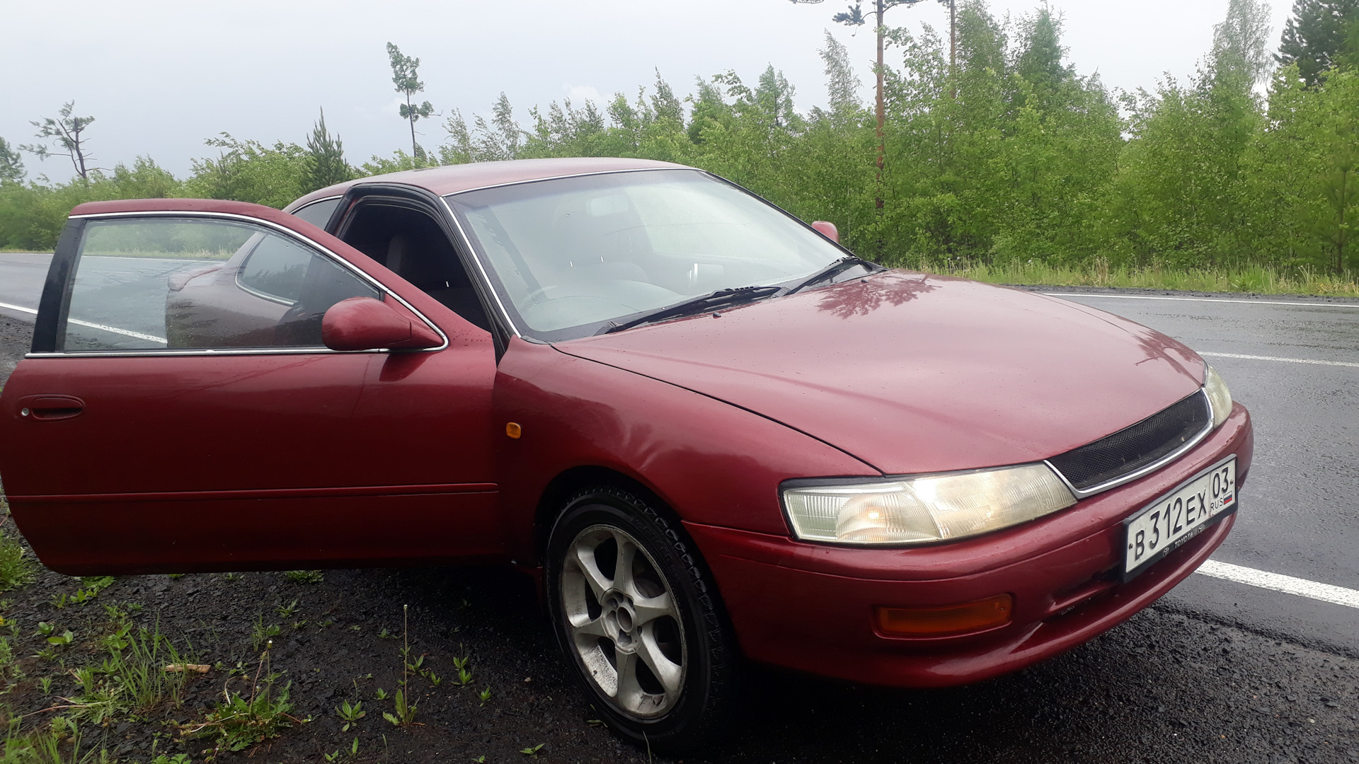
[[[678,521],[626,491],[583,491],[553,523],[546,572],[557,642],[610,727],[665,752],[722,734],[735,642]]]

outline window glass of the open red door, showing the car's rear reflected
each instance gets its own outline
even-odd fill
[[[317,348],[334,303],[381,292],[262,226],[192,218],[84,227],[57,351]]]

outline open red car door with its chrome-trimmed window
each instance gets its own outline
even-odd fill
[[[349,298],[439,344],[328,348]],[[499,556],[492,340],[421,303],[277,209],[77,207],[0,394],[19,529],[76,575]]]

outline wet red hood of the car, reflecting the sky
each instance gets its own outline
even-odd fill
[[[887,474],[1044,459],[1189,396],[1203,360],[1036,292],[892,271],[560,351],[775,419]]]

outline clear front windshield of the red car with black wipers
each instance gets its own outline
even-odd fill
[[[845,254],[697,170],[557,178],[446,198],[515,325],[542,340],[588,336],[716,290],[794,281]]]

